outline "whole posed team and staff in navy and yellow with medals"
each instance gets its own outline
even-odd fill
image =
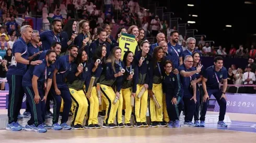
[[[165,34],[158,33],[157,43],[150,45],[144,40],[145,31],[136,25],[127,30],[119,28],[115,38],[108,24],[97,28],[97,37],[92,38],[86,20],[68,20],[62,30],[62,22],[55,19],[52,29],[39,35],[30,25],[21,27],[7,72],[6,129],[45,133],[47,129],[179,128],[181,111],[184,126],[204,127],[211,95],[220,106],[217,125],[227,126],[227,70],[223,58],[215,57],[214,66],[203,67],[193,37],[188,38],[188,49],[183,51],[178,45],[178,31],[171,32],[168,43]],[[134,52],[119,47],[122,33],[135,36],[137,46],[130,47]],[[32,44],[36,56],[30,55],[28,46],[31,41],[38,44],[39,37],[42,46]],[[31,56],[33,59],[28,60]],[[31,112],[25,127],[17,122],[24,93]],[[54,103],[52,125],[44,123],[49,100]],[[67,124],[69,111],[71,125]],[[106,112],[103,123],[98,121],[99,112]]]

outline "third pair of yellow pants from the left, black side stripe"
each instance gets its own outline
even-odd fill
[[[106,116],[104,119],[104,123],[105,124],[114,123],[113,114],[117,113],[119,100],[117,101],[117,103],[115,103],[115,105],[113,105],[113,101],[115,99],[115,92],[112,87],[101,84],[100,90],[101,90],[101,97],[106,103]]]

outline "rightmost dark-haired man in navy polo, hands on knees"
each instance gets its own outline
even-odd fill
[[[226,98],[226,89],[227,89],[227,76],[228,72],[225,67],[223,67],[223,58],[215,57],[214,66],[208,67],[204,71],[202,86],[204,89],[203,97],[203,109],[200,117],[200,126],[205,126],[205,114],[208,107],[209,98],[213,95],[219,105],[219,121],[218,126],[227,127],[227,124],[224,122],[224,117],[226,114],[227,98]],[[223,82],[223,87],[220,88],[219,84]]]

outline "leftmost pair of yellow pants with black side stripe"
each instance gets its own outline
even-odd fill
[[[71,93],[72,105],[74,107],[74,113],[72,116],[72,125],[83,125],[85,114],[88,109],[88,102],[83,90],[75,90],[69,88],[69,92]]]

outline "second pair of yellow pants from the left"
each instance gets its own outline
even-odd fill
[[[87,117],[87,125],[90,124],[98,124],[98,113],[99,113],[99,98],[97,94],[96,87],[92,87],[91,89],[91,97],[88,98],[88,117]]]

